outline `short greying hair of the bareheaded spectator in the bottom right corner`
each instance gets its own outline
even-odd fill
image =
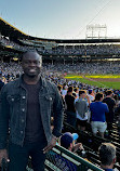
[[[111,143],[102,143],[98,152],[99,160],[103,166],[110,166],[116,158],[116,146]]]

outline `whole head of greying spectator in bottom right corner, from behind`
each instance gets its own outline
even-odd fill
[[[116,163],[116,146],[111,143],[103,143],[99,148],[99,160],[101,167],[105,171],[112,171],[114,165]]]

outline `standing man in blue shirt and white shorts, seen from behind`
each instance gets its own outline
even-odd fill
[[[102,102],[103,98],[103,93],[96,93],[95,102],[90,104],[92,132],[96,135],[98,131],[102,137],[107,128],[105,113],[109,111],[107,104]]]

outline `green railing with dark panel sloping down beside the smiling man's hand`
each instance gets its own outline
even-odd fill
[[[66,167],[68,166],[68,168]],[[45,171],[103,171],[97,166],[56,145],[46,154]],[[26,171],[34,171],[27,167]]]

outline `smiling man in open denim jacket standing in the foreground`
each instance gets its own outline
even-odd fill
[[[43,171],[45,153],[61,135],[62,100],[57,88],[41,77],[41,66],[42,57],[37,52],[24,53],[24,74],[1,90],[0,162],[2,158],[10,159],[9,171],[25,171],[29,156],[34,171]]]

